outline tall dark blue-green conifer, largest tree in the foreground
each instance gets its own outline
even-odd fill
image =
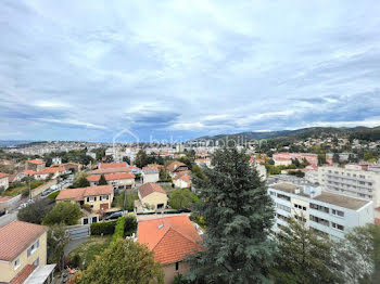
[[[207,224],[203,248],[191,259],[191,281],[265,283],[274,251],[268,238],[274,208],[244,152],[218,150],[205,180],[194,179],[202,203],[195,214]]]

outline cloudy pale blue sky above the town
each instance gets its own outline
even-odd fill
[[[380,1],[2,0],[0,140],[380,126]]]

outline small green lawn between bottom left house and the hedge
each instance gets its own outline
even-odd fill
[[[80,269],[84,269],[83,262],[85,260],[85,267],[88,267],[97,255],[103,253],[109,247],[112,236],[96,236],[91,235],[85,243],[75,248],[68,254],[68,258],[73,261],[75,256],[79,256]],[[77,258],[77,257],[76,257]]]

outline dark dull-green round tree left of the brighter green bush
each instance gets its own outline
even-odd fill
[[[20,221],[28,223],[42,223],[45,216],[51,210],[54,203],[51,199],[43,198],[39,199],[25,208],[21,209],[17,214]]]

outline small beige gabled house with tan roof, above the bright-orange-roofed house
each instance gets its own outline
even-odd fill
[[[159,184],[152,182],[142,184],[137,193],[139,195],[139,203],[136,206],[138,209],[157,210],[166,208],[167,195]]]

